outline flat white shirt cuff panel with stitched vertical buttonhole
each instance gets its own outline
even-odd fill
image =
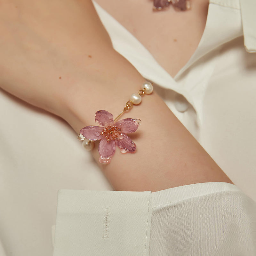
[[[60,190],[54,256],[149,255],[151,191]]]

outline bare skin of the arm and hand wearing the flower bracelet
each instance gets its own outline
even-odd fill
[[[97,110],[118,115],[145,81],[113,50],[91,1],[2,0],[0,7],[2,89],[62,117],[77,133],[94,125]],[[136,153],[117,149],[111,164],[99,164],[114,189],[232,183],[155,92],[127,117],[142,120],[130,136]]]

